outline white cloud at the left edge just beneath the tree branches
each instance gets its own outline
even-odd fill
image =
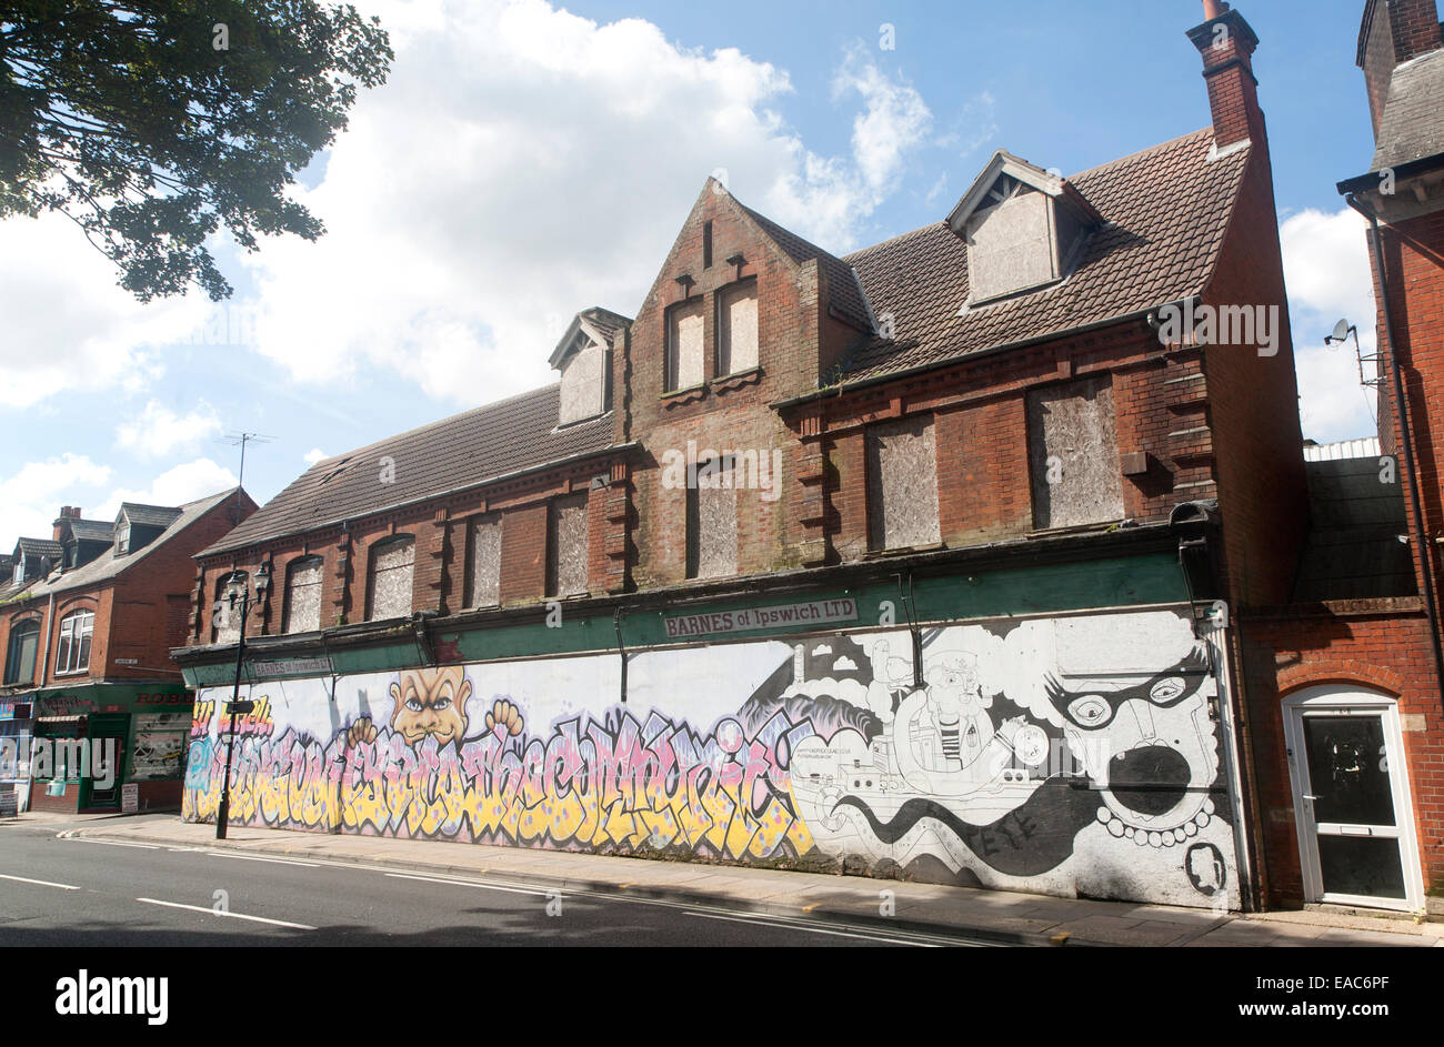
[[[198,295],[143,306],[116,279],[110,260],[62,215],[0,222],[0,404],[144,388],[162,370],[152,347],[199,329],[208,303]]]

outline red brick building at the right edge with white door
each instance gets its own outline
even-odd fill
[[[1435,0],[1369,0],[1357,64],[1376,149],[1369,172],[1339,191],[1369,221],[1380,446],[1310,462],[1313,526],[1292,599],[1243,622],[1258,826],[1272,904],[1438,913],[1444,32]]]

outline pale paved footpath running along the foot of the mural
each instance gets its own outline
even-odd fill
[[[505,877],[563,891],[625,892],[793,920],[967,936],[999,944],[1444,946],[1444,923],[1382,913],[1365,916],[1307,908],[1239,914],[735,865],[237,826],[230,829],[228,839],[217,840],[214,825],[186,823],[178,814],[32,812],[0,825],[17,822],[49,823],[56,835],[72,838],[205,846],[440,875]]]

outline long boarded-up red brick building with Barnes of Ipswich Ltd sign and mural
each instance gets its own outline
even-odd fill
[[[234,748],[251,825],[1262,904],[1236,622],[1308,488],[1258,40],[1206,13],[1201,130],[998,152],[843,257],[709,181],[557,384],[204,550],[186,816]]]

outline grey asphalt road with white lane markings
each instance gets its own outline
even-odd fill
[[[991,944],[491,877],[59,839],[64,827],[0,827],[0,946]]]

